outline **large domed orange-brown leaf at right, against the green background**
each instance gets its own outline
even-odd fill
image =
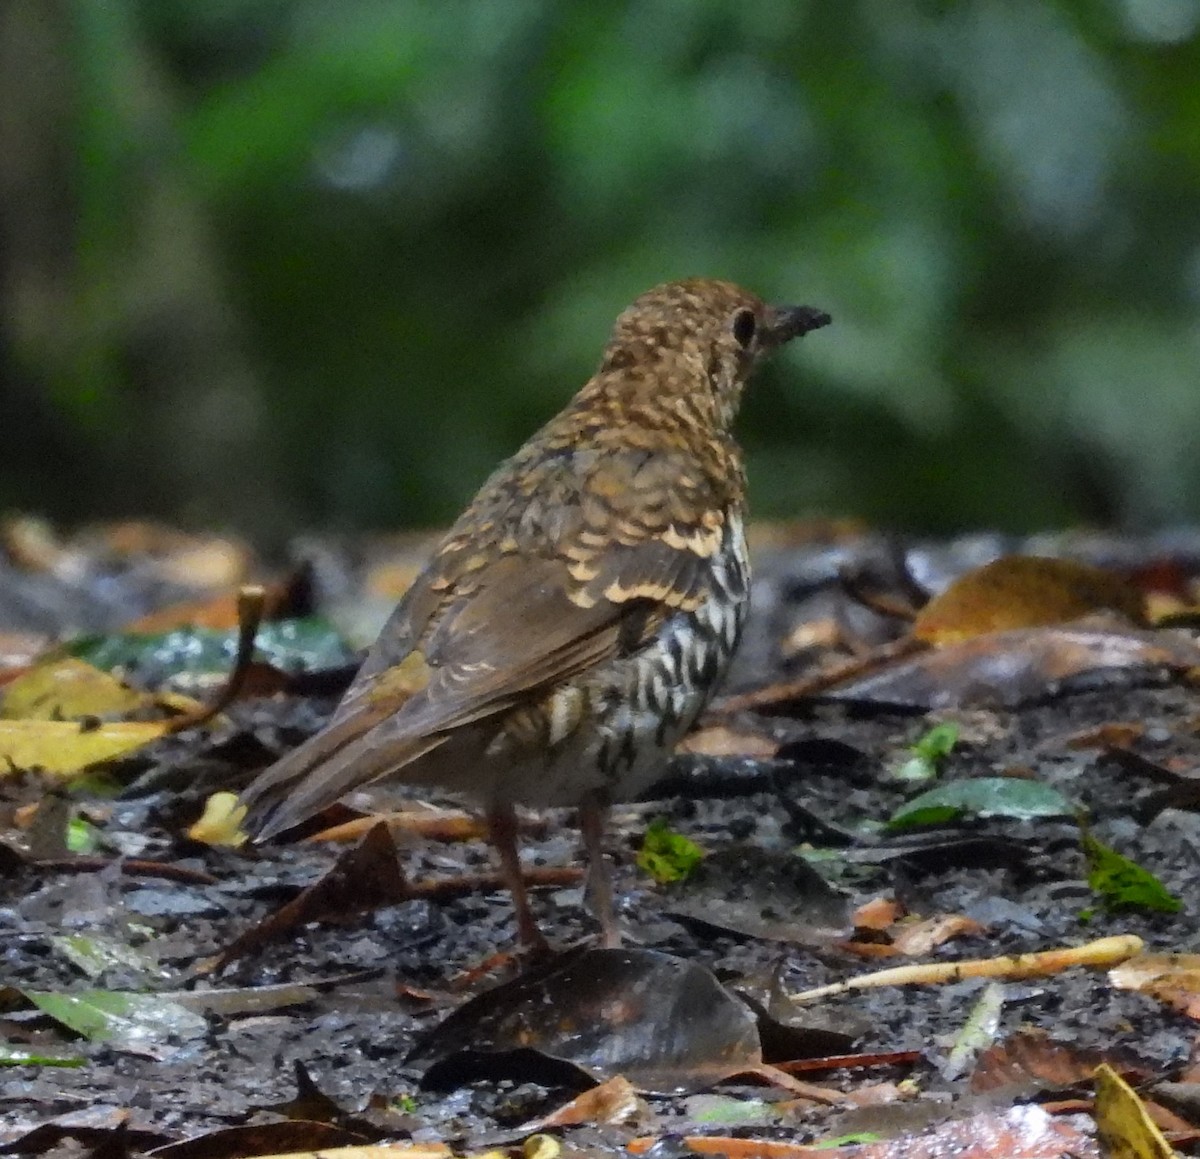
[[[912,633],[931,644],[953,644],[989,632],[1066,624],[1112,611],[1145,623],[1141,593],[1110,571],[1073,559],[1006,556],[955,580],[926,603]]]

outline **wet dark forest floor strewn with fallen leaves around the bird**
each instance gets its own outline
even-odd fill
[[[508,953],[511,906],[461,801],[380,789],[323,818],[349,835],[319,841],[188,833],[211,793],[331,711],[346,641],[371,630],[344,609],[386,602],[419,545],[300,545],[304,590],[293,576],[274,613],[307,625],[300,659],[272,653],[251,695],[102,777],[4,750],[10,726],[28,743],[36,720],[112,723],[16,696],[61,661],[52,638],[84,633],[74,656],[157,696],[211,691],[179,659],[203,650],[190,632],[224,632],[228,660],[232,621],[180,625],[215,624],[228,581],[259,565],[234,552],[199,590],[176,566],[185,538],[114,544],[10,545],[0,564],[0,1152],[530,1153],[550,1133],[594,1154],[1098,1154],[1102,1063],[1175,1147],[1200,1141],[1200,653],[1183,614],[1200,536],[901,551],[839,528],[761,534],[724,699],[613,811],[625,949],[590,945],[574,818],[528,817],[536,914],[562,950],[536,963]],[[1022,551],[1133,577],[1147,600],[1171,589],[1183,626],[1102,600],[1022,629],[1006,605],[962,639],[895,643],[912,625],[887,600]],[[976,621],[994,617],[978,602]],[[306,651],[317,617],[338,645]],[[354,823],[382,809],[402,810],[392,840]],[[1093,943],[1091,963],[1014,957]],[[989,965],[797,998],[948,962]]]

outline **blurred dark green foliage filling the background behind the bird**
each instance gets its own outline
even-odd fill
[[[701,274],[835,319],[748,398],[758,515],[1195,518],[1198,32],[1200,0],[8,0],[0,504],[443,522]]]

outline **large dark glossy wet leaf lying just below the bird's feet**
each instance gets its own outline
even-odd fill
[[[528,1055],[654,1094],[758,1067],[755,1017],[703,967],[653,950],[586,950],[473,998],[407,1062],[430,1086],[528,1074]]]

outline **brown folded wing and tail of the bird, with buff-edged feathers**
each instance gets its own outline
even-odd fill
[[[509,550],[464,568],[451,533],[330,723],[244,794],[250,827],[270,836],[298,824],[431,752],[455,729],[494,732],[530,695],[636,651],[667,615],[698,607],[726,534],[724,511],[685,504],[685,515],[678,504],[647,504],[644,494],[630,494],[628,478],[624,487],[605,485],[632,466],[614,458],[596,468],[584,498],[568,504],[570,518],[556,514],[557,539],[546,538],[532,510],[529,542],[510,535]],[[660,474],[670,470],[659,464],[653,475]],[[408,650],[390,662],[400,639]]]

